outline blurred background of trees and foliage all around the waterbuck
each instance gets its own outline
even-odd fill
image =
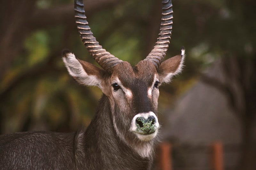
[[[77,32],[73,1],[0,4],[0,134],[88,126],[101,91],[78,85],[61,60],[62,49],[70,49],[96,64]],[[160,0],[84,4],[103,48],[132,65],[148,55],[159,33]],[[224,169],[256,169],[256,1],[172,4],[165,58],[182,46],[187,54],[183,73],[160,87],[161,141],[172,146],[172,168],[212,169],[211,145],[218,142]]]

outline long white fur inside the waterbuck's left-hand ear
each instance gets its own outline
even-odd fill
[[[62,60],[68,69],[68,73],[80,84],[98,86],[101,89],[100,80],[95,75],[88,75],[73,53],[66,54],[66,57],[62,57]]]

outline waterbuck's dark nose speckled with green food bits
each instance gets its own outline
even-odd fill
[[[147,134],[155,132],[156,118],[154,116],[149,116],[147,119],[145,117],[137,117],[136,126],[137,131],[142,131]]]

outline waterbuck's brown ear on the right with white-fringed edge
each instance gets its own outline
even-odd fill
[[[161,83],[169,83],[173,76],[178,75],[182,71],[185,59],[185,49],[181,48],[180,55],[165,60],[158,68],[159,81]]]

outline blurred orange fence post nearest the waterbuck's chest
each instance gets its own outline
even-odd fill
[[[172,146],[169,143],[161,143],[160,146],[159,166],[161,170],[172,170]]]

